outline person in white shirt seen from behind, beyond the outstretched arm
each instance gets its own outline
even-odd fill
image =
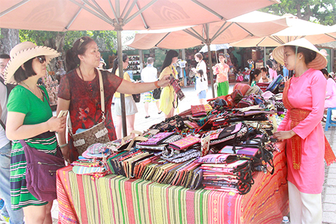
[[[154,59],[151,57],[147,58],[147,66],[141,71],[141,80],[143,82],[155,82],[156,80],[158,80],[158,70],[154,68],[153,64]],[[150,102],[154,102],[156,104],[156,108],[158,108],[158,114],[161,114],[162,112],[160,110],[160,100],[154,99],[153,91],[145,92],[145,119],[148,119],[150,117],[148,112]]]

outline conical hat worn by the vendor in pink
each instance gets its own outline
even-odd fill
[[[313,61],[309,62],[309,64],[307,64],[308,68],[310,69],[320,70],[323,69],[328,63],[326,57],[324,57],[324,55],[322,55],[320,51],[311,42],[309,42],[305,38],[300,38],[298,40],[287,42],[284,45],[276,47],[276,49],[273,50],[273,58],[280,64],[283,65],[285,64],[285,62],[283,61],[285,46],[298,46],[310,49],[311,51],[315,51],[316,58]]]

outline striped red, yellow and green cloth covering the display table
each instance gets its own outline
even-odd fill
[[[58,170],[59,223],[280,223],[289,212],[285,143],[274,175],[257,172],[247,195],[189,190],[107,175],[91,179],[71,166]]]

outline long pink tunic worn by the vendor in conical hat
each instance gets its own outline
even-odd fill
[[[320,71],[309,69],[300,77],[293,77],[288,90],[288,99],[294,108],[311,110],[293,132],[302,138],[300,169],[293,169],[291,143],[286,140],[287,180],[300,192],[320,194],[324,182],[324,132],[321,124],[324,113],[326,79]],[[288,110],[278,131],[289,131],[291,120]]]

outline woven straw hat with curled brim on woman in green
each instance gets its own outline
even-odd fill
[[[16,84],[14,79],[16,70],[28,60],[41,55],[45,55],[48,64],[52,58],[57,57],[60,53],[50,47],[36,46],[29,41],[21,42],[19,45],[13,47],[10,51],[10,61],[5,67],[5,71],[3,71],[5,83]]]

